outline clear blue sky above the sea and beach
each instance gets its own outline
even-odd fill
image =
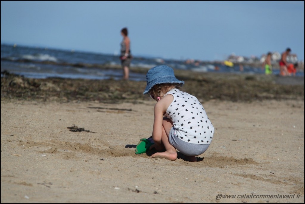
[[[304,61],[303,1],[1,1],[1,43],[224,60],[292,49]]]

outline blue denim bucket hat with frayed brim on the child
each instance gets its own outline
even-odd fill
[[[146,74],[146,88],[143,94],[149,93],[150,89],[156,84],[164,83],[178,83],[181,86],[184,84],[184,81],[178,80],[174,75],[174,70],[166,65],[159,65],[152,67],[148,70]]]

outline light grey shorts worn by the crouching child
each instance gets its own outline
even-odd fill
[[[168,136],[168,140],[171,145],[174,146],[178,151],[186,156],[198,156],[203,154],[210,146],[210,144],[192,144],[185,141],[180,140],[177,136],[175,136],[174,127],[170,129],[170,135]]]

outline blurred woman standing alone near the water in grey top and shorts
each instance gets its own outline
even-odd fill
[[[128,37],[128,31],[127,28],[123,28],[121,30],[121,35],[123,36],[123,40],[121,42],[121,64],[124,72],[124,79],[129,78],[129,67],[131,62],[131,50],[130,50],[130,39]]]

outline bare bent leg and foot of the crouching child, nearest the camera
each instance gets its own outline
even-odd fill
[[[170,129],[173,127],[173,123],[168,118],[163,118],[162,124],[162,138],[161,141],[166,149],[164,152],[157,152],[152,155],[152,158],[166,158],[169,160],[176,160],[177,158],[177,151],[168,141],[168,136],[170,133]]]

